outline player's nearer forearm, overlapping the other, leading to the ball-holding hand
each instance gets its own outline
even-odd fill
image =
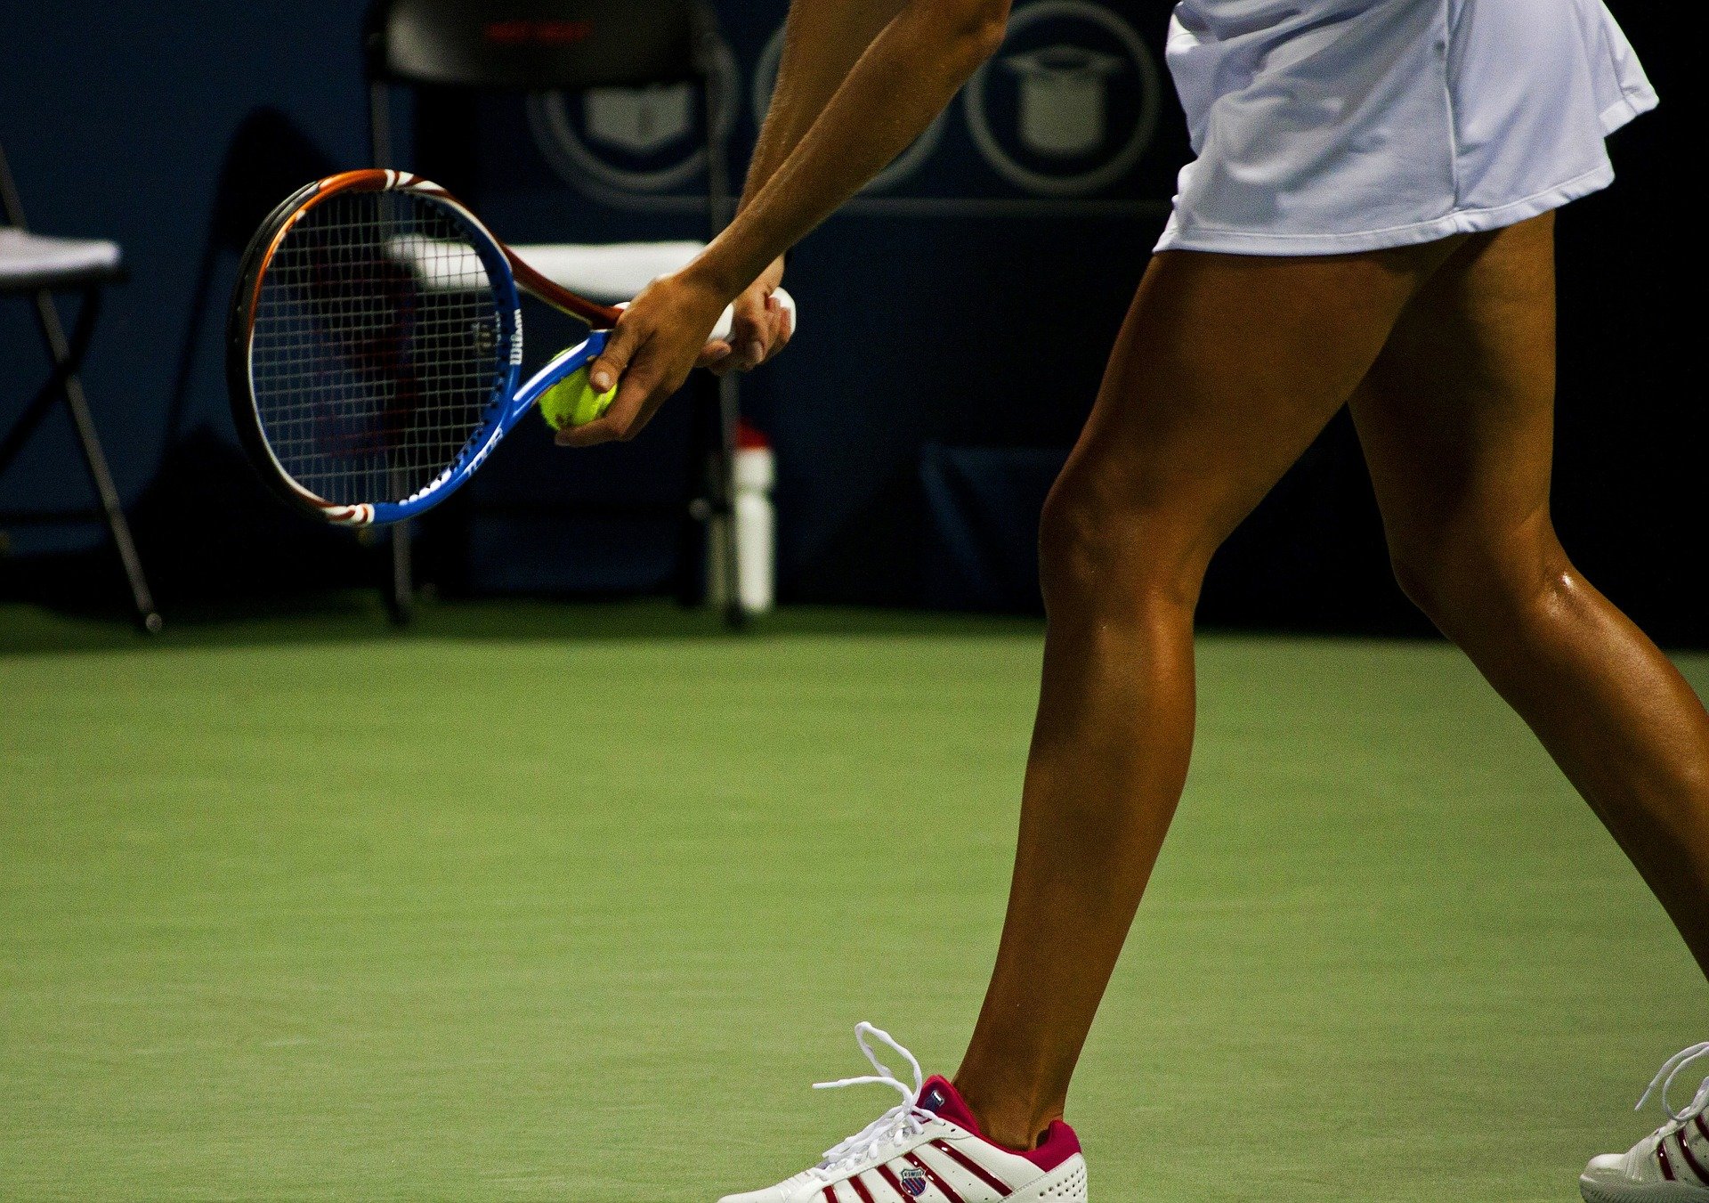
[[[689,272],[726,297],[747,287],[931,125],[1007,15],[1007,0],[909,0]]]

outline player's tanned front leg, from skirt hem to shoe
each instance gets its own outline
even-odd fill
[[[1186,778],[1212,552],[1347,402],[1454,251],[1160,255],[1041,528],[1049,610],[1008,919],[957,1085],[1031,1147],[1080,1047]]]

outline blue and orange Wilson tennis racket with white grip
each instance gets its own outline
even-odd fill
[[[591,330],[521,384],[518,289]],[[456,492],[549,388],[598,357],[620,313],[540,275],[444,188],[347,171],[280,202],[244,251],[226,349],[232,417],[296,509],[398,523]],[[725,309],[713,338],[730,323]]]

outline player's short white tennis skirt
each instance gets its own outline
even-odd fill
[[[1159,251],[1338,255],[1497,229],[1613,181],[1656,92],[1601,0],[1181,0],[1193,150]]]

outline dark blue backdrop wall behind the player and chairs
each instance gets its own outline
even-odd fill
[[[220,166],[248,114],[275,108],[328,162],[366,162],[362,7],[0,5],[0,140],[31,219],[44,232],[115,238],[132,268],[132,282],[111,297],[85,379],[120,487],[142,506],[152,571],[171,578],[167,600],[219,593],[239,562],[272,564],[267,588],[347,581],[378,567],[342,540],[313,543],[299,525],[244,496],[248,482],[220,451],[229,431],[220,378],[229,253],[214,260],[210,304],[191,323]],[[738,167],[783,10],[784,0],[723,5]],[[957,103],[904,178],[800,248],[790,284],[803,302],[803,333],[747,395],[779,449],[786,596],[945,600],[923,579],[938,562],[923,448],[1072,441],[1186,154],[1167,89],[1148,91],[1159,80],[1147,58],[1160,58],[1166,14],[1167,5],[1150,0],[1022,0],[978,103]],[[1683,156],[1671,149],[1692,137],[1700,106],[1687,94],[1683,51],[1663,15],[1636,5],[1618,15],[1665,103],[1617,138],[1622,183],[1574,205],[1562,222],[1557,506],[1569,547],[1605,588],[1663,634],[1700,639],[1694,531],[1702,473],[1685,437],[1692,396],[1678,383],[1683,311],[1668,301],[1671,280],[1695,270],[1699,256],[1695,241],[1675,234],[1695,215],[1687,212]],[[1138,51],[1123,24],[1138,31]],[[516,241],[694,234],[702,219],[689,197],[699,178],[636,183],[637,174],[668,174],[692,144],[668,137],[672,113],[668,96],[631,97],[595,121],[576,103],[492,99],[468,109],[427,97],[412,157],[472,191]],[[1126,154],[1130,145],[1136,154]],[[530,333],[537,330],[538,352],[550,326],[535,323]],[[191,335],[171,448],[174,374]],[[1051,390],[1042,386],[1046,359],[1058,381]],[[0,422],[39,374],[27,308],[0,306]],[[453,514],[441,567],[473,588],[656,584],[675,552],[672,519],[573,514],[588,497],[660,504],[678,496],[680,408],[636,444],[586,456],[513,439],[511,463],[494,465],[473,504]],[[214,437],[195,434],[203,425]],[[925,460],[928,468],[943,461],[937,453]],[[1048,472],[1029,468],[1022,478]],[[164,519],[186,496],[229,519],[191,530],[186,543]],[[0,509],[84,499],[60,419],[0,480]],[[0,584],[51,576],[53,566],[27,552],[94,538],[87,530],[9,531]],[[1205,607],[1230,622],[1408,622],[1383,567],[1345,425],[1326,432],[1219,557]]]

